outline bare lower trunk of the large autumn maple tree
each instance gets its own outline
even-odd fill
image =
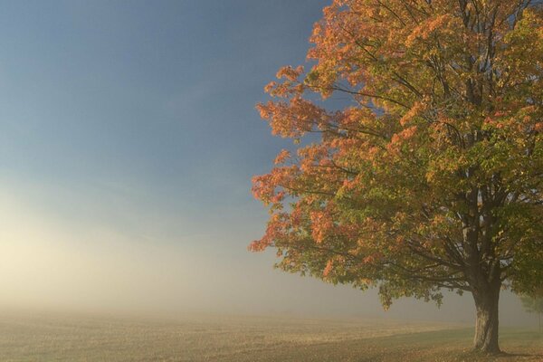
[[[473,348],[484,353],[500,353],[498,345],[498,304],[500,285],[473,291],[476,322]]]

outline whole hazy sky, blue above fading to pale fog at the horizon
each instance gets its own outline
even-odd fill
[[[17,1],[0,12],[0,306],[471,322],[273,270],[254,105],[320,0]],[[505,293],[501,321],[529,322]]]

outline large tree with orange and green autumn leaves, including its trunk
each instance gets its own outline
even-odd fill
[[[499,352],[500,290],[543,281],[540,7],[334,0],[310,41],[257,105],[297,149],[253,177],[271,216],[250,249],[385,308],[470,292],[474,348]]]

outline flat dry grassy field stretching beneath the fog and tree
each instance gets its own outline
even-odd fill
[[[0,315],[0,361],[543,361],[535,331],[501,331],[501,357],[469,353],[472,329],[376,319]]]

